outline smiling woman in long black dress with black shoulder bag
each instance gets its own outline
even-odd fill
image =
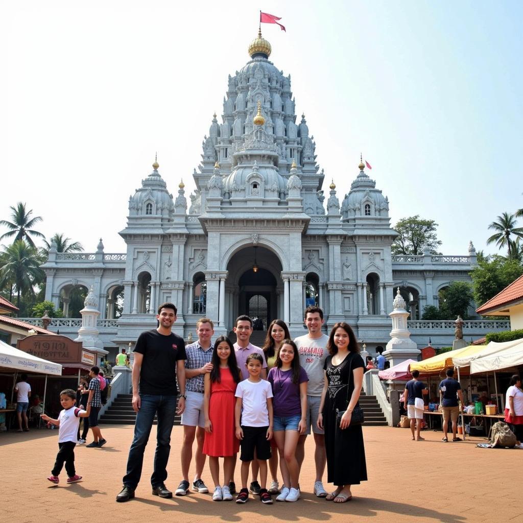
[[[327,501],[345,503],[352,499],[350,487],[367,481],[367,463],[361,425],[350,425],[358,405],[365,363],[350,325],[336,323],[329,335],[325,379],[318,426],[325,429],[327,481],[336,490]],[[338,412],[344,412],[338,421]]]

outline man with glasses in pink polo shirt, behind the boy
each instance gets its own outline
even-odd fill
[[[236,354],[236,361],[238,362],[238,367],[242,373],[242,380],[246,380],[249,377],[247,372],[247,358],[253,353],[261,355],[263,358],[263,365],[261,366],[260,376],[261,379],[267,379],[267,362],[265,361],[264,351],[253,345],[251,343],[251,334],[253,333],[253,321],[251,318],[245,314],[238,316],[236,322],[234,323],[233,331],[236,334],[236,343],[234,344],[234,352]],[[234,462],[234,467],[236,467],[236,460]],[[236,493],[236,485],[234,483],[234,469],[231,477],[231,484],[229,485],[231,494]],[[258,461],[253,460],[252,463],[252,481],[249,485],[249,492],[253,494],[260,493],[260,485],[258,483]]]

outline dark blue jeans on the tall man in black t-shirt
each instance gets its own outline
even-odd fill
[[[134,425],[134,438],[129,450],[127,473],[123,476],[123,484],[130,486],[133,490],[138,486],[142,475],[143,453],[149,440],[155,414],[158,416],[158,425],[156,426],[156,452],[151,484],[153,487],[161,485],[167,479],[170,432],[173,430],[176,413],[176,396],[141,394],[140,398],[142,403]]]

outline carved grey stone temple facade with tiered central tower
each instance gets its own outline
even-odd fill
[[[127,252],[105,254],[101,242],[94,254],[52,246],[43,265],[46,299],[65,310],[72,289],[93,288],[101,318],[111,320],[111,300],[123,289],[118,326],[110,342],[105,338],[122,347],[155,327],[165,301],[177,305],[174,330],[186,338],[203,314],[217,334],[247,313],[263,326],[279,317],[300,335],[303,310],[315,302],[327,329],[347,321],[371,350],[389,339],[393,288],[400,287],[411,319],[419,319],[450,281],[470,280],[473,247],[465,256],[391,255],[389,200],[363,163],[348,194],[329,186],[325,205],[316,143],[304,115],[295,123],[294,106],[290,75],[254,53],[229,76],[221,122],[214,115],[203,138],[188,212],[183,182],[174,198],[155,162],[129,198],[120,232]],[[344,161],[332,178],[347,170]]]

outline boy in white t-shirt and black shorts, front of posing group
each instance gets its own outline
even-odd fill
[[[267,460],[271,456],[272,438],[272,388],[268,381],[260,377],[263,364],[263,356],[249,354],[245,362],[249,377],[238,383],[236,388],[236,437],[240,440],[242,449],[242,490],[236,497],[236,503],[245,503],[249,498],[247,478],[255,450],[260,473],[260,501],[272,503],[267,491]]]

